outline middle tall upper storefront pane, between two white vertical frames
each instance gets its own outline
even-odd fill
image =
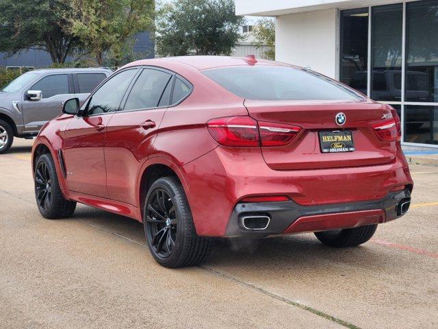
[[[403,5],[372,8],[371,98],[376,101],[402,99]]]

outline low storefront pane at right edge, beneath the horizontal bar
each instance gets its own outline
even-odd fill
[[[404,106],[404,142],[438,145],[438,106]]]

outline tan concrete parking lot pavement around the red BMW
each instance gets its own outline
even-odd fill
[[[411,166],[411,210],[361,247],[218,241],[200,267],[165,269],[136,221],[43,219],[31,143],[0,156],[1,328],[438,328],[438,167]]]

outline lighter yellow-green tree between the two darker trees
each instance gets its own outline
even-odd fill
[[[70,0],[70,32],[99,65],[110,53],[116,66],[126,53],[127,42],[138,32],[153,29],[153,0]]]

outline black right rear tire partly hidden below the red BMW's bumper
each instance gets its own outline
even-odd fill
[[[315,236],[324,245],[331,247],[355,247],[371,239],[376,232],[377,224],[360,226],[359,228],[346,228],[344,230],[333,230],[315,232]]]

